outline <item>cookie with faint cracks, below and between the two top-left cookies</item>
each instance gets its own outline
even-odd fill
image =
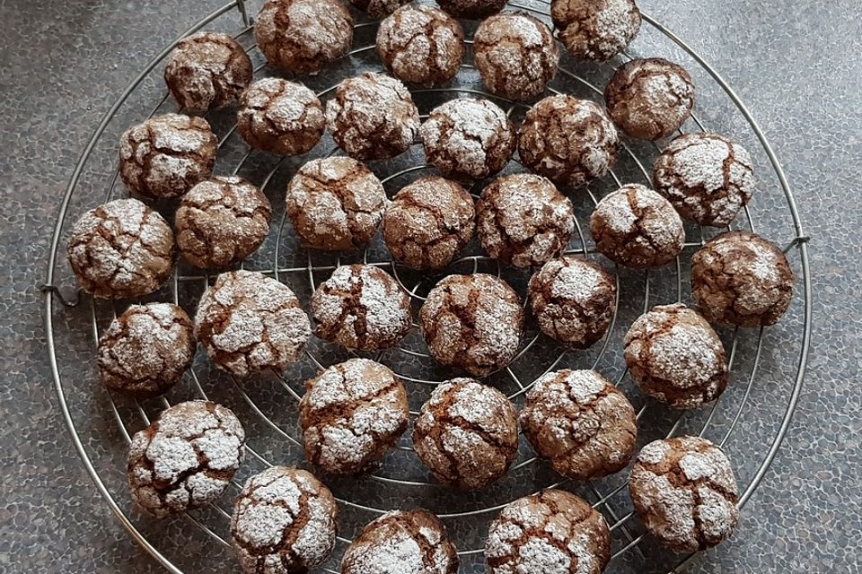
[[[242,94],[236,131],[251,147],[302,155],[321,141],[326,118],[314,92],[301,83],[263,78]]]

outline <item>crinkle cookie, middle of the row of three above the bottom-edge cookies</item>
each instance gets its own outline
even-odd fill
[[[453,378],[422,405],[413,448],[441,483],[467,491],[485,488],[515,460],[515,406],[494,387]]]

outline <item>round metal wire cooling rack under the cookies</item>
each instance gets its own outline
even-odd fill
[[[252,6],[250,5],[249,8]],[[253,6],[257,7],[257,6]],[[545,1],[521,0],[509,8],[533,13],[549,22],[549,5]],[[254,46],[250,10],[246,2],[234,0],[197,22],[183,36],[198,30],[228,31],[249,52],[255,65],[255,77],[274,74],[265,65]],[[376,22],[357,21],[354,48],[350,57],[332,65],[318,76],[303,82],[326,100],[341,79],[368,69],[380,69],[374,54]],[[688,300],[691,253],[719,230],[687,229],[685,249],[675,262],[663,269],[633,272],[615,269],[620,299],[616,303],[614,322],[609,335],[583,352],[559,352],[559,348],[528,326],[528,334],[512,365],[492,376],[488,383],[503,390],[515,404],[541,374],[560,368],[595,368],[615,380],[638,409],[639,439],[649,440],[681,433],[706,436],[726,449],[734,463],[741,485],[740,505],[744,505],[764,477],[787,432],[805,377],[808,345],[811,335],[811,286],[808,268],[807,237],[796,204],[770,143],[751,113],[734,91],[703,58],[673,35],[659,22],[644,16],[644,30],[637,46],[644,45],[644,55],[663,56],[679,61],[690,69],[698,84],[699,104],[685,131],[723,131],[745,143],[758,164],[760,189],[751,209],[744,210],[735,229],[756,230],[776,241],[790,253],[797,275],[796,296],[787,316],[775,327],[759,331],[719,331],[729,354],[731,384],[714,404],[687,413],[673,412],[661,404],[645,401],[626,375],[621,360],[621,338],[640,313],[655,304]],[[468,39],[475,24],[465,22]],[[181,38],[181,37],[180,37]],[[179,41],[177,39],[176,41]],[[119,518],[128,533],[159,561],[164,568],[181,572],[234,571],[228,533],[228,519],[233,497],[241,484],[268,465],[303,465],[296,407],[303,393],[303,381],[321,366],[342,361],[345,352],[313,339],[307,357],[282,376],[270,374],[250,381],[237,381],[215,370],[204,352],[198,356],[189,373],[168,395],[137,402],[101,387],[94,368],[96,341],[113,317],[124,309],[120,303],[92,300],[89,296],[71,294],[75,279],[64,257],[71,223],[80,213],[127,192],[118,185],[116,146],[119,134],[128,126],[154,114],[175,111],[165,94],[161,72],[165,57],[173,46],[153,58],[144,71],[128,85],[96,128],[84,149],[62,199],[57,225],[51,241],[45,286],[45,326],[48,335],[48,361],[63,416],[75,448],[98,491]],[[496,101],[517,121],[526,107],[501,100],[485,91],[471,62],[471,44],[465,65],[453,83],[436,89],[413,90],[423,117],[445,100],[473,96]],[[630,58],[617,58],[609,65],[584,65],[563,57],[557,79],[549,92],[571,93],[576,97],[600,100],[604,83],[615,66]],[[155,105],[154,105],[155,102]],[[283,190],[295,170],[312,157],[338,153],[329,137],[302,158],[278,159],[266,153],[251,152],[234,133],[233,113],[216,112],[207,116],[219,135],[219,159],[216,174],[236,173],[257,184],[272,200],[274,207],[270,237],[244,267],[260,271],[291,286],[304,303],[314,287],[338,265],[364,261],[390,271],[410,293],[418,309],[424,295],[439,277],[429,277],[393,264],[376,238],[363,251],[346,254],[311,253],[299,246],[289,224],[285,222]],[[568,195],[576,207],[576,234],[569,252],[597,259],[585,223],[598,199],[623,183],[649,182],[649,170],[660,148],[653,143],[623,144],[614,170],[586,191]],[[371,166],[383,180],[391,196],[414,178],[431,173],[421,152],[413,145],[409,152],[390,161]],[[513,161],[506,171],[521,170]],[[471,192],[477,194],[481,182]],[[175,205],[156,205],[169,219]],[[755,226],[754,212],[758,214]],[[607,262],[604,262],[607,264]],[[484,257],[474,241],[466,255],[454,263],[449,273],[482,271],[501,274],[523,296],[528,274],[500,269]],[[200,293],[213,279],[180,263],[161,291],[146,300],[170,300],[193,313]],[[414,327],[396,349],[369,355],[389,365],[409,389],[413,414],[440,381],[451,376],[435,367]],[[228,492],[203,509],[182,517],[157,521],[132,508],[125,483],[125,463],[129,437],[154,419],[169,404],[190,398],[207,397],[233,409],[242,419],[249,439],[246,463]],[[668,572],[680,570],[696,556],[665,552],[644,534],[632,514],[626,488],[627,472],[590,483],[562,480],[538,460],[521,441],[518,458],[506,478],[487,491],[456,494],[447,491],[428,476],[418,463],[409,444],[409,433],[373,474],[360,478],[326,479],[339,499],[341,529],[336,551],[324,571],[337,572],[341,554],[358,530],[384,511],[417,506],[431,509],[449,527],[459,548],[462,572],[483,572],[482,546],[488,523],[511,500],[557,486],[574,491],[606,517],[612,531],[612,572]]]

